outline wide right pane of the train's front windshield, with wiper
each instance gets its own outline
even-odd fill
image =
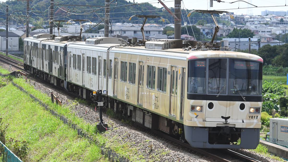
[[[259,62],[230,59],[228,94],[261,95],[262,65]]]

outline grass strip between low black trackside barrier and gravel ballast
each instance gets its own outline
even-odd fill
[[[27,92],[33,94],[35,97],[43,101],[43,103],[46,103],[50,107],[50,109],[55,110],[58,114],[65,116],[66,118],[71,120],[74,124],[77,124],[80,128],[82,128],[84,132],[88,133],[90,137],[93,137],[94,139],[96,139],[101,145],[105,145],[106,147],[111,148],[116,153],[118,153],[118,155],[125,157],[129,159],[130,161],[139,161],[139,162],[146,161],[142,153],[138,152],[136,148],[131,147],[132,145],[131,142],[125,142],[125,143],[121,142],[122,139],[120,136],[114,136],[113,138],[109,138],[109,139],[106,137],[103,137],[103,135],[101,135],[102,133],[97,132],[96,125],[86,123],[83,121],[82,118],[76,117],[75,114],[71,112],[71,110],[69,110],[69,106],[66,106],[66,105],[58,106],[52,103],[51,98],[48,95],[43,94],[38,90],[35,90],[33,86],[31,86],[30,84],[27,84],[25,80],[23,79],[20,79],[20,78],[14,79],[14,82],[22,86]],[[74,107],[76,104],[77,102],[74,101],[74,103],[70,106]],[[108,123],[108,125],[109,124],[111,123]],[[109,125],[109,127],[111,126]],[[111,133],[111,131],[106,131],[104,133]],[[148,150],[148,146],[149,145],[147,144],[147,150]],[[155,150],[155,152],[152,152],[150,154],[149,157],[151,157],[151,159],[149,161],[157,161],[159,160],[158,159],[159,155],[166,154],[166,153],[167,152],[165,152],[164,150],[157,150],[157,151]]]

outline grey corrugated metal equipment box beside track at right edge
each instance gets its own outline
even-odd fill
[[[270,118],[269,142],[288,146],[288,118]]]

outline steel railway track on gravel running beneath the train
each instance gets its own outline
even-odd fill
[[[21,69],[21,70],[23,70],[23,71],[26,71],[25,69],[23,69],[23,68],[21,68],[21,67],[18,66],[19,63],[15,62],[15,61],[13,61],[13,60],[7,59],[6,57],[0,56],[0,60],[3,61],[3,62],[5,62],[5,63],[7,63],[7,64],[9,64],[9,65],[12,65],[12,66],[18,68],[18,69]],[[15,65],[15,64],[16,64],[16,65]],[[22,64],[20,64],[20,65],[22,65]],[[23,65],[22,65],[22,66],[23,66]],[[42,78],[39,77],[39,79],[42,79]],[[64,91],[65,91],[65,92],[68,92],[68,91],[66,91],[66,90],[64,90]],[[79,96],[75,95],[74,93],[71,93],[71,92],[68,92],[68,93],[71,94],[71,95],[73,95],[74,97],[79,97]],[[133,122],[133,123],[136,124],[136,125],[139,125],[140,127],[146,128],[146,127],[144,127],[143,125],[140,125],[140,124],[137,123],[137,122]],[[146,129],[147,129],[147,128],[146,128]],[[153,132],[154,134],[159,135],[159,136],[161,136],[161,137],[164,137],[164,138],[166,138],[166,139],[169,140],[169,141],[175,142],[175,143],[177,143],[177,144],[179,144],[179,145],[181,145],[181,146],[183,146],[183,147],[185,147],[185,148],[188,148],[188,149],[190,149],[190,150],[193,150],[193,151],[195,151],[195,152],[198,152],[198,153],[200,153],[200,154],[202,154],[202,155],[204,155],[204,156],[206,156],[206,157],[210,157],[211,159],[217,160],[217,161],[219,161],[219,162],[234,162],[234,161],[237,161],[237,160],[238,160],[238,161],[239,161],[239,160],[241,160],[241,161],[247,161],[247,162],[260,162],[260,161],[258,161],[258,160],[256,160],[256,159],[247,157],[247,156],[245,156],[245,155],[242,155],[242,154],[240,154],[240,153],[238,153],[238,152],[234,152],[234,151],[229,150],[229,149],[221,149],[221,151],[220,151],[221,154],[219,154],[219,153],[215,153],[215,152],[219,151],[219,149],[218,149],[217,151],[215,151],[216,149],[200,149],[200,148],[194,148],[194,147],[191,147],[190,144],[181,142],[181,141],[179,141],[178,139],[175,139],[175,138],[173,138],[173,137],[171,137],[171,136],[169,136],[169,135],[167,135],[167,134],[165,134],[165,133],[162,133],[162,132],[160,132],[160,131],[151,130],[151,132]],[[211,152],[214,152],[214,153],[211,153]],[[223,152],[225,152],[225,153],[223,154]],[[230,160],[228,160],[227,157],[230,157]],[[231,157],[233,157],[233,158],[232,158],[233,160],[231,160]],[[235,159],[235,160],[234,160],[234,159]]]

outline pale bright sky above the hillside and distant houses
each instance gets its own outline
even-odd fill
[[[127,1],[127,0],[126,0]],[[129,0],[128,0],[129,1]],[[133,0],[130,0],[133,2]],[[160,8],[162,5],[158,3],[158,0],[134,0],[135,3],[143,3],[143,2],[149,2],[152,5]],[[213,7],[210,7],[210,0],[182,0],[181,7],[189,9],[189,10],[225,10],[228,12],[234,12],[234,14],[248,14],[248,3],[245,3],[243,1],[238,0],[221,0],[225,1],[218,3],[217,1],[213,1]],[[237,1],[237,2],[235,2]],[[261,15],[261,11],[270,10],[270,11],[285,11],[288,10],[288,0],[286,3],[286,0],[244,0],[246,2],[249,2],[257,7],[252,8],[253,15]],[[174,0],[162,0],[162,2],[167,7],[174,7]],[[231,3],[235,2],[235,3]],[[230,4],[231,3],[231,4]],[[287,6],[285,6],[287,4]],[[270,6],[277,6],[277,7],[270,7]],[[238,9],[239,8],[239,9]],[[173,10],[172,10],[173,11]]]

